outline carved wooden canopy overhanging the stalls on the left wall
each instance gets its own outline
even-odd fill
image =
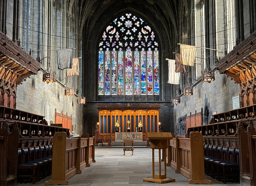
[[[37,74],[41,64],[0,31],[0,78],[11,84],[21,84],[31,74]]]

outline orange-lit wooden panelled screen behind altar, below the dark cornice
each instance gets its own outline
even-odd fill
[[[139,123],[142,122],[143,141],[146,138],[146,132],[158,132],[159,112],[151,111],[99,111],[99,138],[115,139],[115,123],[120,125],[120,132],[139,132]],[[130,127],[129,127],[130,126]],[[130,128],[130,129],[129,129]]]

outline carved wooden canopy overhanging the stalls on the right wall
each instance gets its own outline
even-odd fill
[[[256,76],[256,31],[243,40],[216,64],[220,73],[235,83],[247,82]]]

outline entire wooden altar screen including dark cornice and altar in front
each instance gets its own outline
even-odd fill
[[[98,104],[99,137],[146,140],[147,132],[159,132],[161,104]]]

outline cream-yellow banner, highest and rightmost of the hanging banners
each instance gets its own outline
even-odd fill
[[[196,53],[195,46],[188,46],[188,45],[181,44],[180,53],[181,53],[181,64],[194,66],[195,53]]]

